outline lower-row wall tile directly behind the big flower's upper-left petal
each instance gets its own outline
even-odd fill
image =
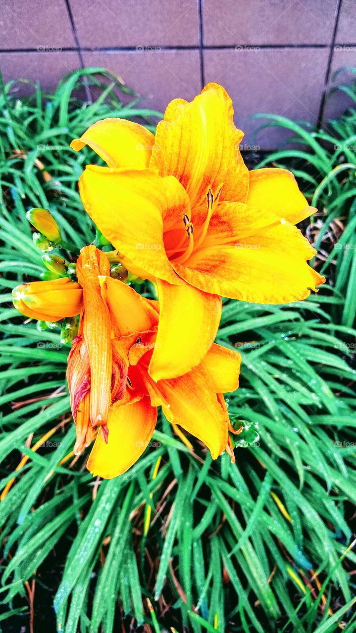
[[[200,92],[198,51],[84,52],[83,59],[86,66],[101,66],[119,75],[144,97],[144,108],[164,111],[172,99],[191,101]]]

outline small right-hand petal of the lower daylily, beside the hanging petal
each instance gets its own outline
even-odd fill
[[[212,344],[202,363],[217,393],[235,391],[239,386],[241,356],[233,349]]]

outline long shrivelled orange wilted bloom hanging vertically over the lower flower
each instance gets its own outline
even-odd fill
[[[108,306],[101,296],[99,277],[110,273],[105,254],[95,246],[84,246],[77,261],[77,277],[83,288],[82,332],[91,370],[90,419],[92,426],[106,425],[111,394],[111,323]]]

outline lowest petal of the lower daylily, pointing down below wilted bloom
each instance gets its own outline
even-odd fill
[[[128,470],[143,454],[155,430],[157,409],[149,398],[123,405],[120,401],[110,408],[108,442],[101,432],[96,437],[87,469],[103,479],[113,479]]]

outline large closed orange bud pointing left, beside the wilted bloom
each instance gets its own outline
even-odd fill
[[[21,284],[12,291],[15,308],[25,316],[54,323],[76,316],[82,309],[83,291],[68,277]]]

